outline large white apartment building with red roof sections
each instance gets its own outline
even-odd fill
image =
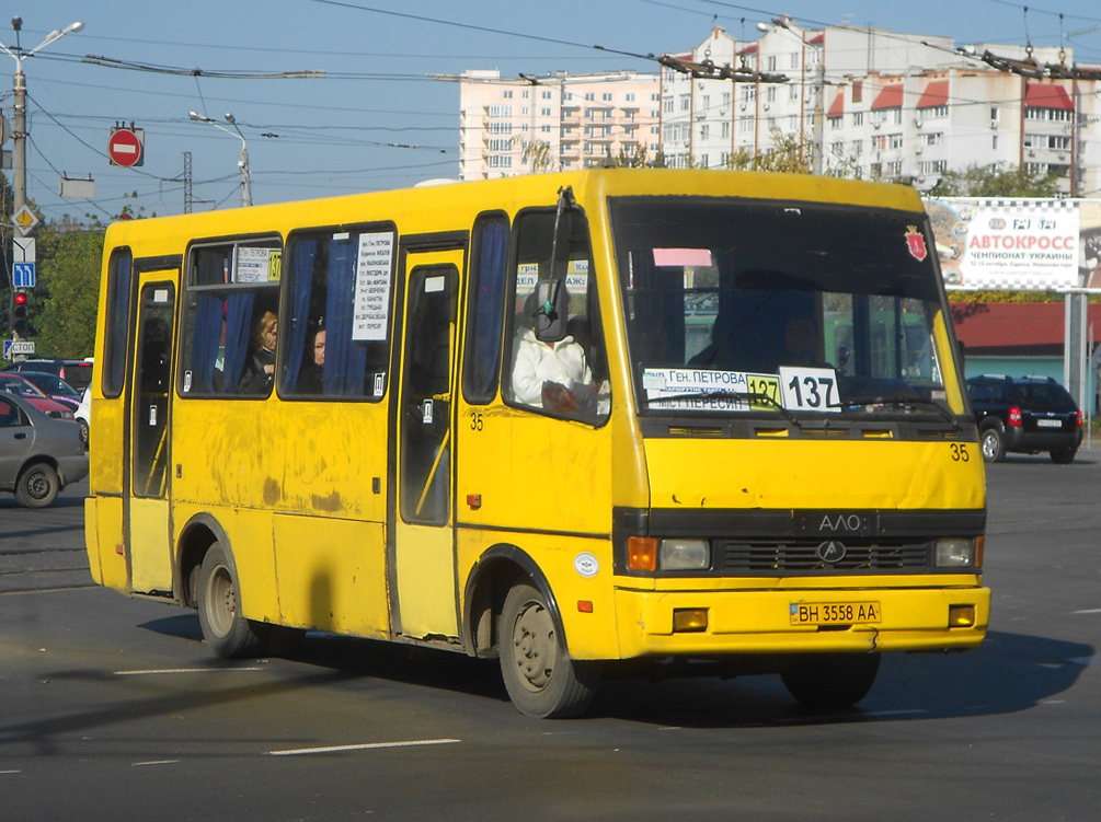
[[[950,37],[806,30],[786,19],[759,29],[752,43],[713,29],[677,56],[784,81],[732,83],[663,69],[668,165],[726,167],[735,152],[768,152],[795,136],[819,173],[906,179],[928,189],[949,169],[1002,163],[1033,174],[1053,171],[1067,194],[1101,190],[1097,81],[1026,78],[972,57],[989,50],[1024,59],[1020,46],[964,51]],[[1040,65],[1072,64],[1069,51],[1037,48],[1032,56]]]

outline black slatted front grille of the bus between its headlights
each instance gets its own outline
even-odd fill
[[[931,568],[931,542],[849,545],[844,558],[824,562],[818,557],[819,542],[735,542],[719,541],[721,551],[716,567],[726,576],[774,576],[817,573],[922,573]]]

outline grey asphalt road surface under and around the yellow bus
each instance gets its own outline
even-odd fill
[[[193,613],[90,587],[86,485],[0,497],[0,819],[1095,820],[1101,452],[988,485],[979,650],[889,656],[839,714],[775,677],[621,678],[557,722],[439,651],[218,660]]]

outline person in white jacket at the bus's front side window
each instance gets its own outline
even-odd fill
[[[569,294],[560,281],[544,281],[524,303],[531,320],[519,337],[512,366],[517,402],[558,414],[575,414],[595,403],[592,372],[585,349],[566,333]]]

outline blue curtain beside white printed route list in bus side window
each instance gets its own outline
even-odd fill
[[[358,237],[329,243],[328,292],[325,304],[325,393],[363,393],[367,347],[351,339],[356,308]]]

